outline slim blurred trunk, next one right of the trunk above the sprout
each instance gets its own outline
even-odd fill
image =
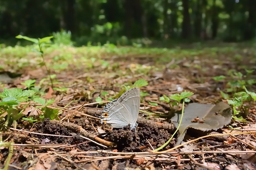
[[[195,9],[195,35],[196,38],[200,38],[200,34],[202,31],[202,10],[203,10],[203,5],[201,0],[197,0],[196,2],[196,9]]]

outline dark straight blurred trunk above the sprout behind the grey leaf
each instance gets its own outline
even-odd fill
[[[189,7],[188,7],[188,0],[182,0],[183,5],[183,21],[182,21],[182,38],[189,38],[190,37],[190,17],[189,17]]]

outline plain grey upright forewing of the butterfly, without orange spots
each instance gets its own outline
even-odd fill
[[[140,88],[133,87],[130,90],[126,91],[118,100],[117,102],[122,103],[126,109],[129,111],[131,119],[128,124],[131,124],[131,127],[134,127],[140,109]]]

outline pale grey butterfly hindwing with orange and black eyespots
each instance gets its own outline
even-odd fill
[[[106,107],[104,107],[102,111],[102,115],[100,116],[102,124],[109,124],[113,128],[123,128],[128,125],[132,120],[132,116],[123,103],[114,100]]]

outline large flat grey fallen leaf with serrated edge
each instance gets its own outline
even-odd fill
[[[179,128],[179,137],[175,146],[181,144],[188,128],[199,129],[202,131],[217,130],[231,122],[232,113],[230,106],[224,102],[216,105],[190,103],[184,109],[184,115]],[[171,118],[172,123],[177,128],[180,122],[181,114],[175,114]],[[195,118],[199,118],[199,122],[191,122]]]

